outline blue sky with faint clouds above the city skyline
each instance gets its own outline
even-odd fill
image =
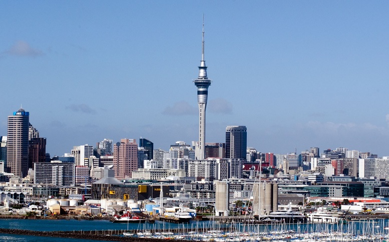
[[[21,106],[47,152],[104,138],[198,139],[227,125],[289,153],[389,155],[389,1],[0,1],[0,135]]]

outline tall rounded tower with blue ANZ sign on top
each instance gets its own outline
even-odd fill
[[[29,118],[30,112],[23,108],[8,116],[7,166],[19,177],[29,170]]]

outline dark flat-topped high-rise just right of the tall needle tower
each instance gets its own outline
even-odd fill
[[[246,126],[226,127],[226,158],[246,159]]]

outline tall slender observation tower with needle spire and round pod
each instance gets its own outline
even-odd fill
[[[199,104],[199,140],[196,146],[196,158],[204,159],[205,152],[205,109],[207,107],[208,86],[211,80],[207,76],[207,66],[204,58],[204,18],[203,18],[203,41],[201,51],[201,61],[199,66],[199,77],[193,82],[197,86],[197,102]]]

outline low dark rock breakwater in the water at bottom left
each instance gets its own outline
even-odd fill
[[[124,231],[124,230],[122,230]],[[164,239],[160,238],[138,238],[138,237],[122,237],[117,236],[123,234],[121,230],[106,230],[106,231],[35,231],[26,229],[12,229],[12,228],[0,228],[0,233],[6,234],[18,234],[29,236],[50,236],[50,237],[62,237],[62,238],[76,238],[76,239],[93,239],[104,241],[132,241],[132,242],[162,242]],[[175,239],[177,242],[187,242],[187,240]]]

